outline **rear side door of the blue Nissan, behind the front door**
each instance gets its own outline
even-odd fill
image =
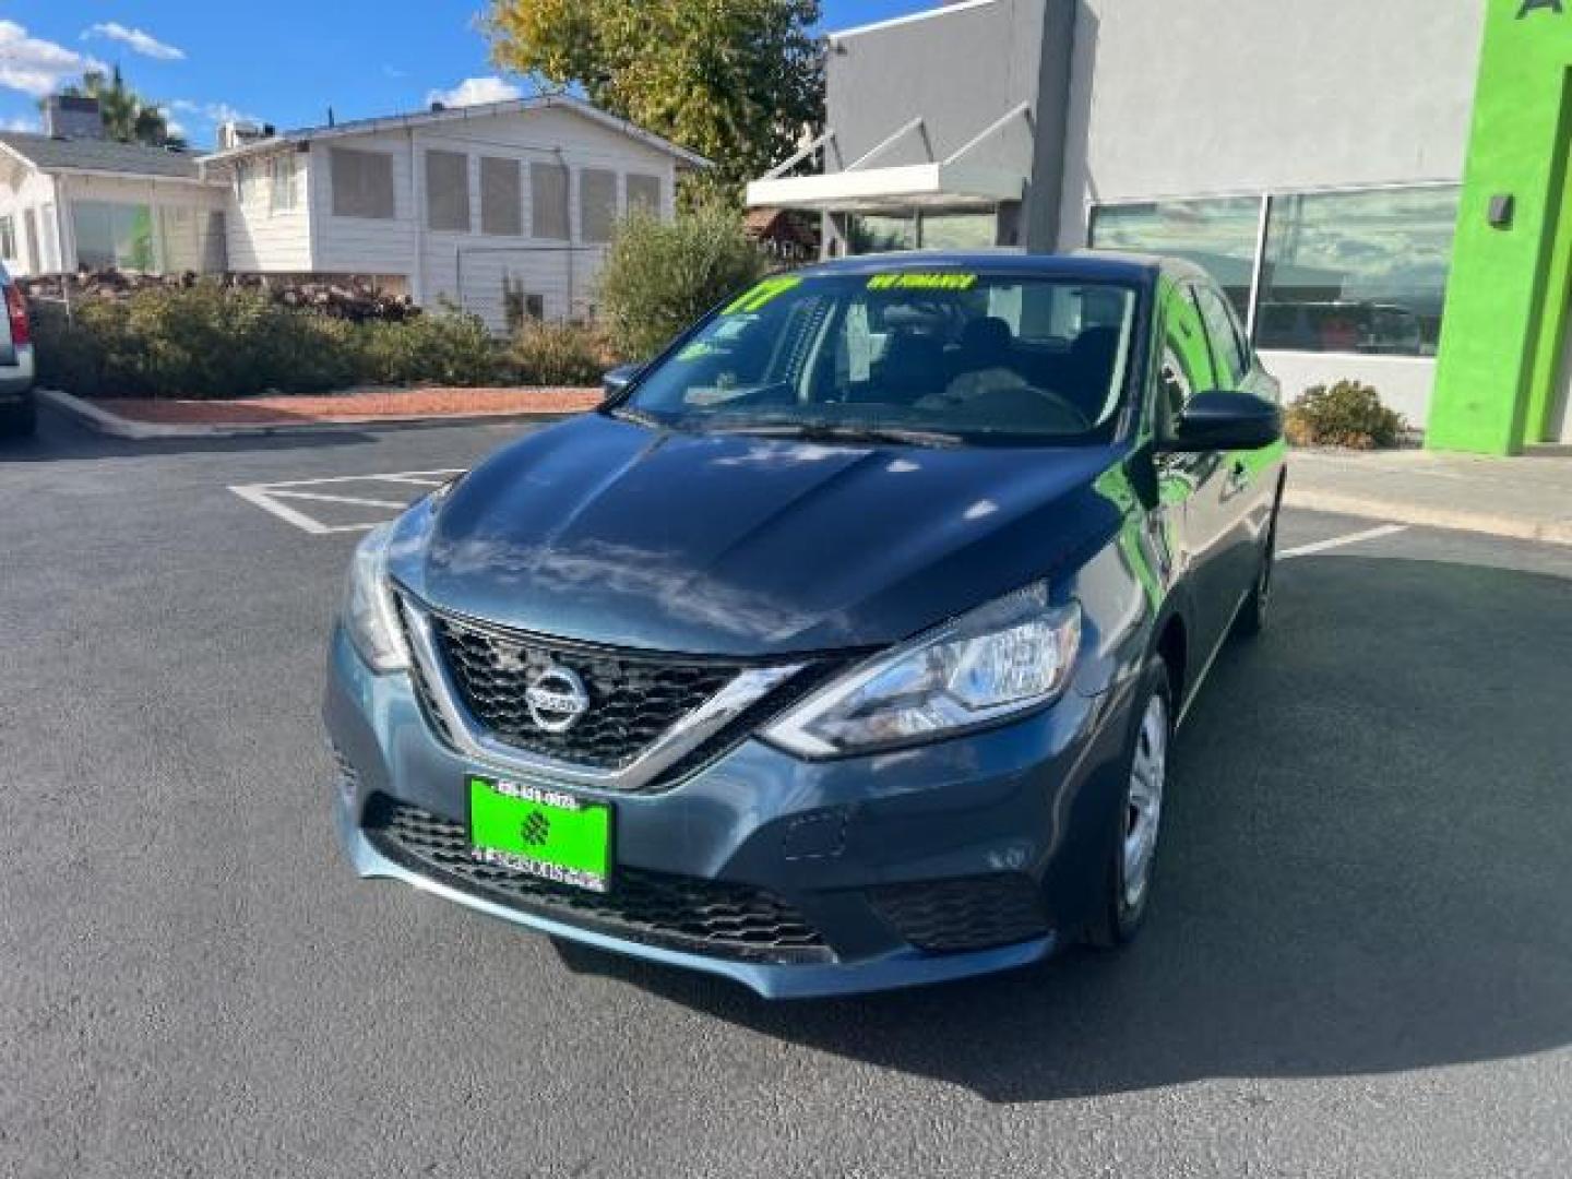
[[[1239,318],[1223,292],[1214,283],[1198,281],[1192,286],[1192,296],[1206,327],[1217,388],[1275,399],[1276,388],[1256,363]],[[1229,536],[1220,560],[1228,567],[1226,582],[1234,586],[1236,599],[1243,597],[1254,585],[1259,571],[1261,545],[1276,501],[1280,454],[1280,448],[1267,448],[1231,451],[1221,459],[1221,503],[1229,519]]]

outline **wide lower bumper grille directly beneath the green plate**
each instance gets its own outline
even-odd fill
[[[830,962],[819,932],[784,901],[747,885],[618,868],[590,893],[470,857],[462,824],[387,797],[366,836],[395,863],[473,896],[596,932],[744,962]]]

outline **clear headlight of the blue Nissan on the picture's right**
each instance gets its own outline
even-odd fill
[[[1055,700],[1080,649],[1077,602],[1039,582],[821,689],[764,736],[806,758],[916,745]]]

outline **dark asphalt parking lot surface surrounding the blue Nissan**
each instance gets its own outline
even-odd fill
[[[1289,516],[1129,953],[770,1006],[338,858],[349,550],[517,429],[0,443],[0,1174],[1572,1170],[1572,549]]]

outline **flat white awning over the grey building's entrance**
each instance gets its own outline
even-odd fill
[[[1025,190],[1027,179],[1017,171],[957,160],[753,181],[748,184],[748,208],[817,212],[986,209],[1000,201],[1019,201]]]

